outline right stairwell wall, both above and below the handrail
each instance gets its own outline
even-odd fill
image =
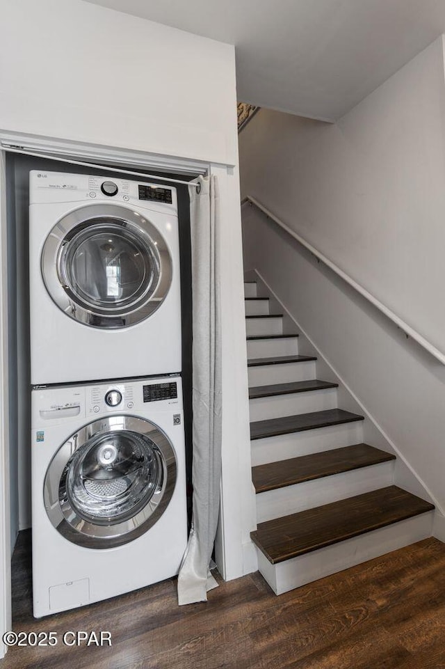
[[[259,111],[241,189],[445,350],[442,40],[336,126]],[[257,268],[445,508],[445,367],[353,288],[245,207]]]

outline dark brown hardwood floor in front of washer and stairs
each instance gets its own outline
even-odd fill
[[[13,629],[56,631],[59,643],[13,647],[0,669],[445,669],[445,544],[434,539],[280,597],[252,574],[178,607],[170,579],[41,620],[29,552],[23,533]],[[113,645],[64,646],[69,630],[111,631]]]

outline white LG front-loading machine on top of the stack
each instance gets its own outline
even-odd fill
[[[31,384],[181,371],[177,192],[30,173]]]

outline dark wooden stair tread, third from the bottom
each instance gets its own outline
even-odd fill
[[[264,439],[267,436],[278,436],[291,432],[314,430],[317,427],[353,423],[355,420],[364,420],[364,416],[351,414],[343,409],[327,409],[325,411],[311,411],[310,414],[296,416],[280,416],[250,423],[250,439]]]

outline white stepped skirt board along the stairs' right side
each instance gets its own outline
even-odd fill
[[[416,471],[407,461],[401,450],[399,450],[385,430],[379,425],[374,416],[364,407],[364,404],[357,398],[357,395],[346,384],[339,372],[334,368],[334,365],[327,360],[320,349],[314,344],[304,328],[300,325],[298,320],[287,310],[286,306],[274,292],[273,288],[267,283],[264,277],[257,269],[250,269],[244,273],[245,281],[256,281],[258,285],[257,294],[259,297],[270,298],[270,310],[275,313],[283,314],[283,331],[293,332],[297,329],[299,333],[299,351],[300,354],[317,356],[316,366],[317,375],[325,381],[332,381],[339,384],[337,388],[339,406],[346,411],[353,413],[362,413],[365,416],[363,423],[364,441],[372,443],[376,448],[385,450],[396,455],[396,463],[394,469],[394,484],[404,488],[408,492],[422,497],[434,504],[436,507],[434,523],[432,525],[432,535],[439,540],[445,540],[445,510],[437,502],[435,496],[432,495],[430,489],[421,480]],[[425,519],[426,526],[431,527],[429,515]]]

